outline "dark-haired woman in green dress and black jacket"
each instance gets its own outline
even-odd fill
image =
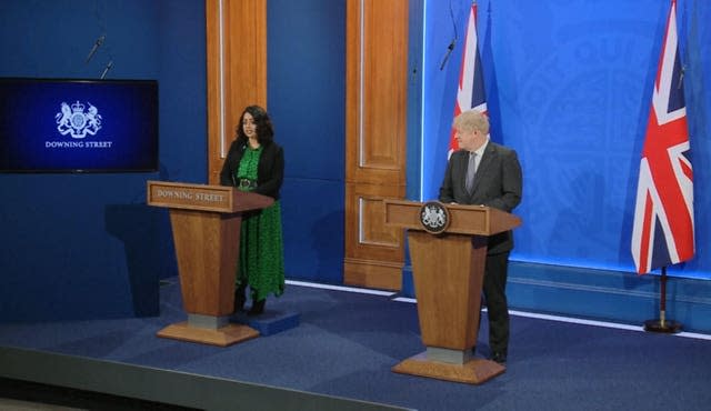
[[[267,295],[284,291],[283,240],[279,189],[284,174],[283,149],[273,141],[267,111],[259,106],[244,109],[237,138],[220,172],[222,186],[233,186],[274,199],[270,207],[242,215],[240,261],[234,288],[234,311],[244,308],[249,285],[252,307],[248,314],[264,311]]]

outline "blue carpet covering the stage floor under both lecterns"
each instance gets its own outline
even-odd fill
[[[469,385],[391,372],[424,350],[412,303],[289,285],[267,307],[299,313],[298,327],[228,348],[157,338],[186,319],[173,280],[161,288],[160,317],[0,324],[0,345],[418,410],[705,410],[711,403],[709,340],[513,315],[507,372]],[[485,332],[479,352],[488,353]]]

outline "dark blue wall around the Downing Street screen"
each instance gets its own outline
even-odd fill
[[[84,60],[96,39],[106,41]],[[2,1],[0,76],[157,79],[160,172],[0,174],[0,320],[151,315],[177,273],[168,215],[146,181],[204,182],[204,4]]]

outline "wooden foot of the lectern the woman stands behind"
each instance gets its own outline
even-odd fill
[[[179,322],[158,331],[158,337],[203,344],[228,347],[259,337],[259,331],[242,324],[228,324],[219,329],[190,327],[188,322]]]

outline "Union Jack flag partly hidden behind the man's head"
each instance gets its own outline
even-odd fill
[[[467,23],[467,37],[464,38],[464,51],[459,72],[459,88],[457,90],[457,103],[454,104],[454,118],[462,111],[477,109],[487,113],[487,96],[484,78],[481,72],[481,59],[479,58],[479,39],[477,36],[477,2],[471,4],[469,21]],[[449,139],[448,157],[459,149],[452,129]]]

